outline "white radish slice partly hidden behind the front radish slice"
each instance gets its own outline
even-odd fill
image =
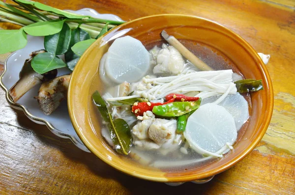
[[[217,99],[217,96],[202,99],[201,105],[214,102]],[[248,102],[239,93],[228,95],[218,105],[223,106],[234,117],[237,131],[249,118]]]

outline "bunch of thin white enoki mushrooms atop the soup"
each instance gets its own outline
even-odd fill
[[[147,90],[136,90],[137,97],[148,99],[160,99],[171,93],[184,94],[192,91],[200,91],[205,98],[224,94],[232,82],[232,70],[223,71],[203,71],[177,76],[166,76],[157,78],[142,79],[147,86]],[[205,94],[206,93],[206,94]],[[230,94],[236,93],[233,87]],[[197,95],[201,97],[200,94]],[[117,98],[119,99],[119,97]]]

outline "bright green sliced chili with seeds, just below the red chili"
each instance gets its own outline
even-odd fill
[[[179,117],[200,107],[201,98],[197,101],[172,102],[154,106],[152,112],[162,117]]]

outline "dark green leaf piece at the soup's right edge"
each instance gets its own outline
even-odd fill
[[[236,90],[239,93],[257,92],[263,90],[262,79],[243,79],[235,82]]]

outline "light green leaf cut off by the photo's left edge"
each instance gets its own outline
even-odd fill
[[[0,30],[0,54],[22,49],[27,42],[27,34],[23,29]]]

